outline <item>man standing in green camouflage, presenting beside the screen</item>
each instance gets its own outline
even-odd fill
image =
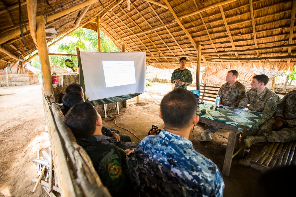
[[[180,59],[180,68],[176,69],[172,73],[172,78],[170,81],[175,84],[175,88],[181,87],[187,89],[187,86],[192,84],[192,74],[185,68],[186,58]]]

